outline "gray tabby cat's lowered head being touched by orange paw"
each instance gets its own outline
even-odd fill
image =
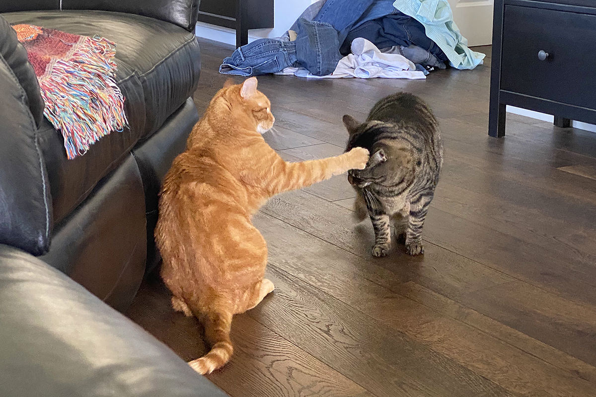
[[[346,120],[345,117],[344,124],[350,136],[371,127],[368,125],[370,123],[359,124],[353,118]],[[367,149],[371,153],[367,167],[364,170],[350,170],[347,176],[350,184],[358,187],[395,187],[409,186],[414,182],[420,160],[412,149],[399,145],[392,139],[380,140]]]

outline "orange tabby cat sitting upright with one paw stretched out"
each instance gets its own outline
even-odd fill
[[[361,170],[368,161],[363,148],[322,160],[283,161],[261,136],[275,121],[269,107],[256,78],[226,83],[164,180],[156,229],[162,278],[173,308],[204,324],[211,351],[189,363],[201,374],[229,361],[232,315],[274,290],[263,279],[267,246],[251,222],[254,212],[277,193]]]

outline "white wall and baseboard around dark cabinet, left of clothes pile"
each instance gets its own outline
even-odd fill
[[[274,28],[249,30],[249,42],[263,37],[279,37],[290,29],[306,7],[317,0],[274,0]],[[233,29],[214,26],[206,23],[197,23],[195,30],[197,36],[215,40],[230,45],[236,44],[236,33]]]

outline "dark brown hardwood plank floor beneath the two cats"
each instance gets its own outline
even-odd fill
[[[201,41],[199,112],[226,79],[226,46]],[[373,258],[345,176],[277,196],[254,217],[277,289],[234,318],[234,356],[209,376],[240,396],[596,396],[596,134],[508,114],[488,137],[485,65],[427,80],[261,76],[288,161],[340,154],[343,114],[383,96],[425,99],[445,167],[424,257]],[[242,79],[236,79],[240,82]],[[184,360],[205,351],[156,276],[127,315]]]

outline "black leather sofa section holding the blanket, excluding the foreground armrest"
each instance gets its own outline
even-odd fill
[[[200,74],[197,7],[192,0],[0,2],[1,55],[18,80],[14,95],[24,90],[21,98],[0,94],[23,119],[0,119],[0,243],[41,255],[119,310],[154,265],[160,181],[198,120],[190,99]],[[19,23],[115,42],[130,128],[67,160],[8,26]]]

